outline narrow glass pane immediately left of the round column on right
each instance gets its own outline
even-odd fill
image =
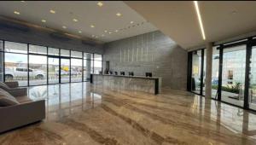
[[[191,90],[200,94],[201,90],[201,49],[192,54]]]

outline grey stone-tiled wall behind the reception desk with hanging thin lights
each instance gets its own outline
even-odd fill
[[[156,31],[104,44],[103,60],[109,61],[111,71],[139,76],[151,72],[162,78],[163,87],[185,90],[187,55],[171,38]]]

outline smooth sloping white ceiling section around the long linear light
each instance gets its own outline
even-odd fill
[[[184,49],[256,30],[256,2],[199,1],[207,40],[201,37],[193,1],[126,1]]]

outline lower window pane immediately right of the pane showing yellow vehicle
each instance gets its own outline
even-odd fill
[[[71,59],[71,82],[82,82],[82,59]]]

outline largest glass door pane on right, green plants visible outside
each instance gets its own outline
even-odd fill
[[[225,48],[221,100],[243,107],[246,68],[246,45]]]

